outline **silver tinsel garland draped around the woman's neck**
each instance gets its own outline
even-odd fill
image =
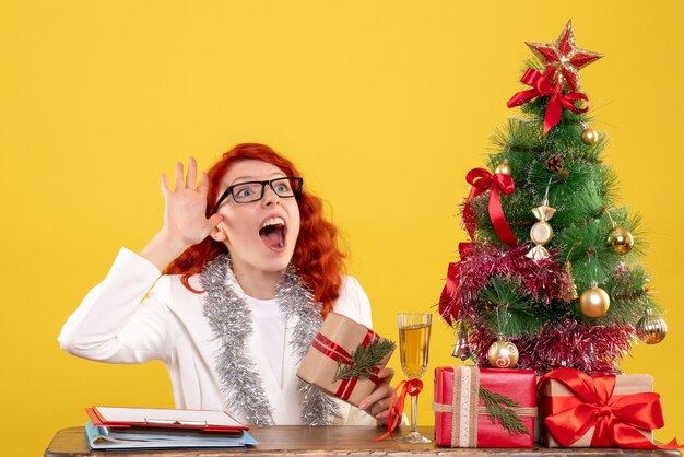
[[[214,338],[221,340],[216,372],[222,384],[226,407],[241,411],[249,425],[273,425],[273,410],[255,364],[245,354],[246,340],[252,332],[251,312],[237,292],[239,285],[227,255],[210,261],[200,274],[207,291],[204,317],[209,319]],[[308,352],[322,318],[320,304],[304,286],[294,267],[290,266],[278,285],[275,297],[288,320],[296,325],[288,342],[298,363]],[[302,394],[302,421],[308,425],[326,425],[340,417],[335,400],[318,388],[298,379]]]

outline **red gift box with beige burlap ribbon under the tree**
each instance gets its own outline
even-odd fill
[[[518,403],[528,433],[509,433],[487,413],[480,389]],[[448,366],[435,370],[435,443],[450,447],[532,447],[536,377],[527,370]]]

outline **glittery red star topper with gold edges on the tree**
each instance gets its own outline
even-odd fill
[[[561,84],[573,92],[579,90],[579,70],[603,57],[602,54],[591,52],[575,46],[573,21],[561,32],[555,43],[529,43],[526,45],[546,65],[545,75],[554,83]]]

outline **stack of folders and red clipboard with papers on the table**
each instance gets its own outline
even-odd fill
[[[256,445],[224,411],[87,408],[91,449],[237,448]]]

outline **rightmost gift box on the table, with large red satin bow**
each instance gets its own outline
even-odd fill
[[[590,376],[558,368],[540,380],[541,441],[549,447],[674,449],[652,443],[664,425],[660,396],[649,375]]]

